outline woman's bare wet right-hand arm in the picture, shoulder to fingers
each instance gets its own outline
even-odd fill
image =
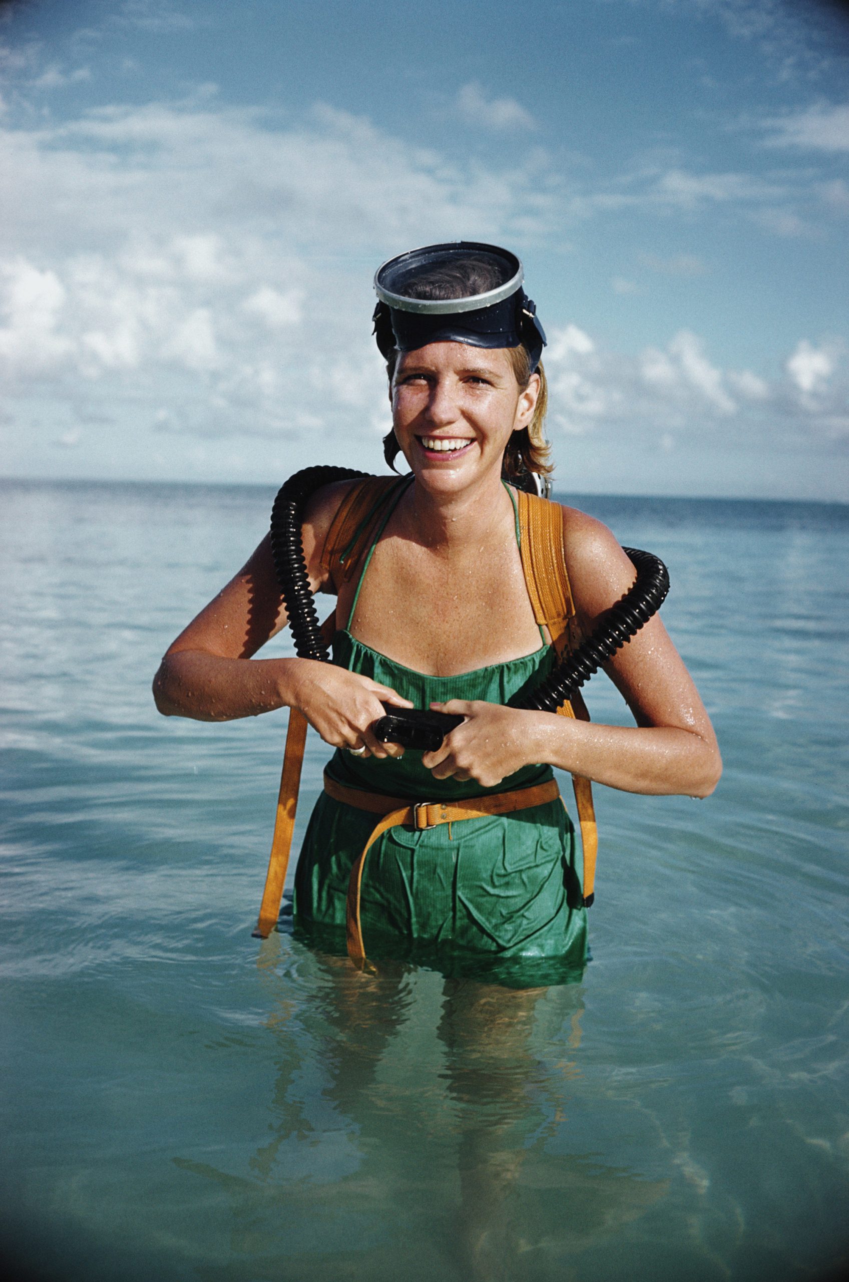
[[[600,522],[564,509],[566,558],[578,623],[587,635],[634,582],[634,565]],[[453,774],[492,787],[532,762],[626,792],[708,796],[722,762],[693,678],[655,615],[605,668],[634,714],[634,728],[576,722],[451,700],[467,715],[424,764],[436,778]]]

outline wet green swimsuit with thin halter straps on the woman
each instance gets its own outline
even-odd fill
[[[404,488],[392,494],[395,501],[368,551],[349,624],[374,546]],[[508,663],[455,677],[430,677],[369,649],[348,628],[333,638],[333,663],[390,686],[417,708],[449,699],[508,704],[548,676],[554,662],[553,646],[544,644]],[[422,754],[412,749],[403,758],[385,760],[337,750],[327,772],[348,787],[414,801],[508,792],[553,777],[550,765],[526,765],[494,788],[482,788],[475,779],[435,779],[422,765]],[[373,814],[335,801],[326,792],[309,820],[295,874],[295,922],[300,932],[333,950],[344,951],[349,873],[374,823]],[[424,831],[391,828],[369,851],[360,913],[369,956],[412,956],[450,973],[458,968],[468,973],[469,965],[475,970],[476,960],[509,959],[513,965],[503,982],[563,982],[580,976],[586,958],[586,910],[581,905],[575,831],[563,804],[555,800]],[[534,959],[554,963],[554,972],[550,964],[544,976],[539,965],[528,970],[527,964],[519,964],[517,970],[517,963]]]

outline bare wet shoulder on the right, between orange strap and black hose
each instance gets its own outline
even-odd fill
[[[591,620],[627,592],[636,572],[604,522],[562,506],[563,551],[575,608],[582,619]]]

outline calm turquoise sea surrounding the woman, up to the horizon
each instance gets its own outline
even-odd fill
[[[726,774],[598,790],[593,960],[527,992],[251,938],[285,715],[163,719],[150,679],[269,503],[0,487],[6,1255],[92,1282],[845,1261],[849,508],[581,500],[667,560]],[[626,720],[604,677],[587,701]]]

